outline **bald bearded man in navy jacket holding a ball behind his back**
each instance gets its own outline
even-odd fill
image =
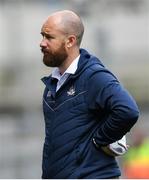
[[[115,156],[127,150],[135,100],[95,56],[80,49],[84,26],[72,11],[50,15],[41,28],[45,142],[42,178],[118,178]]]

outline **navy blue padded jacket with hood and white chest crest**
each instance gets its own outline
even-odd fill
[[[57,92],[56,79],[42,79],[44,179],[120,176],[115,158],[100,147],[122,138],[138,119],[135,101],[117,78],[96,57],[80,53],[76,73]]]

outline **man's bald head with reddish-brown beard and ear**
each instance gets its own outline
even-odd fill
[[[84,26],[72,11],[53,13],[42,26],[43,39],[40,43],[44,54],[43,62],[50,67],[61,67],[69,56],[79,51]]]

